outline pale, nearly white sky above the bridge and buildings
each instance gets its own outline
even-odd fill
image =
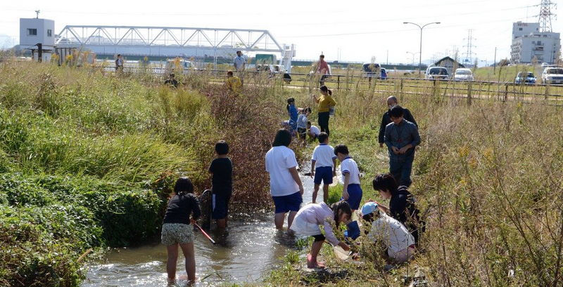
[[[19,19],[55,20],[55,32],[65,25],[127,25],[267,29],[280,44],[296,44],[296,59],[381,63],[419,60],[420,29],[424,25],[422,61],[467,57],[472,29],[472,60],[510,58],[512,22],[538,22],[540,0],[450,1],[2,1],[0,47],[19,41]],[[554,1],[557,3],[558,1]],[[552,12],[557,13],[555,8]],[[561,18],[561,17],[559,17]],[[553,32],[563,20],[552,18]],[[485,62],[479,62],[484,65]]]

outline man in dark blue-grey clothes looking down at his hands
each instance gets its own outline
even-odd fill
[[[397,180],[397,185],[410,187],[412,161],[415,160],[415,147],[420,145],[418,128],[403,119],[404,109],[395,106],[389,111],[391,124],[385,127],[384,142],[389,150],[389,172]]]

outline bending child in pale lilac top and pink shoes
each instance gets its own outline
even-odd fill
[[[307,267],[324,268],[324,263],[317,262],[317,255],[321,251],[324,239],[327,239],[333,246],[340,246],[345,251],[349,251],[348,244],[339,241],[332,232],[331,222],[336,222],[336,227],[341,223],[348,224],[352,218],[352,210],[346,201],[333,203],[330,207],[327,203],[310,203],[301,208],[293,224],[291,230],[300,235],[312,236],[315,242],[312,243],[311,253],[307,255]],[[324,235],[322,235],[319,225],[324,227]]]

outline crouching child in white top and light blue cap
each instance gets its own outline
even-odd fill
[[[368,202],[362,206],[362,219],[372,226],[367,237],[374,242],[382,243],[386,249],[389,262],[407,262],[415,255],[415,239],[403,223],[395,218],[381,213],[379,204]]]

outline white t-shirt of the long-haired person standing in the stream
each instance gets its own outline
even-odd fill
[[[299,185],[289,173],[289,168],[296,166],[295,153],[288,147],[272,147],[266,153],[266,171],[270,173],[272,196],[286,196],[299,191]]]

